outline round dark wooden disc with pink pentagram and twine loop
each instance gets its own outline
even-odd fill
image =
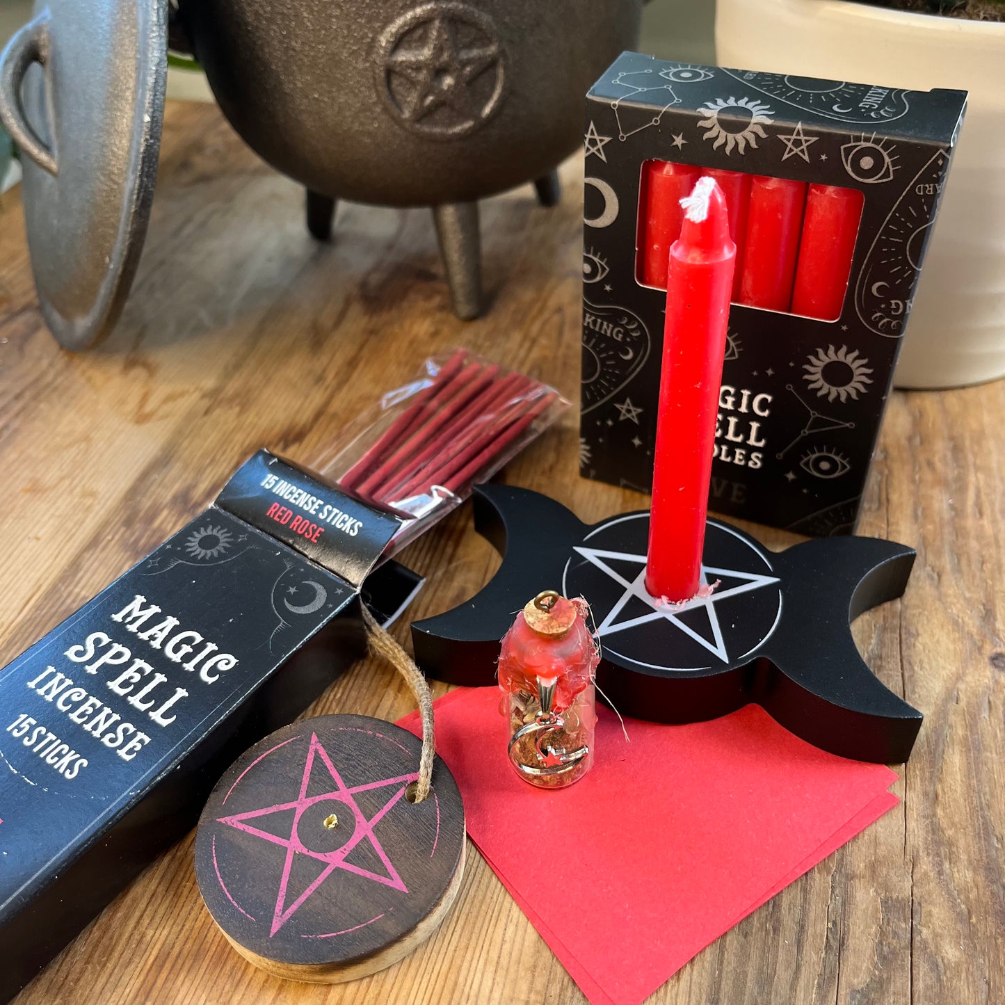
[[[390,723],[325,716],[231,765],[199,821],[195,865],[238,953],[275,977],[336,983],[436,930],[460,888],[464,808],[439,758],[417,798],[420,748]]]

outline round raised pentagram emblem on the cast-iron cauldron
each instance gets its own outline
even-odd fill
[[[498,111],[506,57],[495,25],[481,11],[464,3],[426,3],[381,33],[374,53],[377,89],[406,129],[455,140]]]

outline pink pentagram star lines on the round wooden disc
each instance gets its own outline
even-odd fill
[[[328,769],[336,787],[329,792],[322,793],[321,795],[308,796],[308,786],[311,780],[311,771],[314,767],[316,755],[321,758],[325,767]],[[391,886],[393,889],[401,890],[403,893],[408,892],[408,887],[402,881],[401,876],[398,874],[398,870],[392,864],[391,859],[388,858],[383,847],[381,847],[381,843],[378,840],[377,835],[374,833],[374,827],[405,794],[405,788],[408,783],[416,781],[418,777],[418,772],[412,772],[408,775],[398,775],[395,778],[387,778],[378,782],[367,782],[364,785],[357,785],[353,788],[349,788],[342,780],[342,776],[340,776],[339,772],[336,771],[335,765],[332,764],[332,759],[328,756],[328,752],[321,745],[321,741],[318,740],[317,734],[312,733],[311,747],[308,751],[307,760],[304,764],[304,775],[300,779],[300,791],[296,799],[290,802],[276,803],[274,806],[263,806],[261,809],[257,810],[248,810],[244,813],[235,813],[233,816],[217,818],[219,823],[228,824],[231,827],[235,827],[237,830],[243,830],[247,834],[259,837],[262,840],[270,842],[271,844],[278,844],[286,849],[286,858],[282,866],[282,877],[279,880],[279,889],[275,897],[275,910],[272,914],[272,927],[269,931],[269,938],[274,936],[275,933],[278,932],[279,929],[281,929],[282,926],[293,917],[297,909],[305,903],[308,897],[311,896],[311,894],[314,893],[314,891],[318,889],[318,887],[321,886],[321,884],[336,869],[345,869],[348,872],[354,872],[364,878],[372,879],[374,882],[383,883],[386,886]],[[353,798],[354,794],[357,792],[365,792],[371,789],[380,789],[385,786],[392,785],[398,786],[395,793],[368,820],[364,816],[363,811],[360,809],[359,804]],[[356,828],[352,837],[350,837],[350,839],[341,848],[327,852],[315,851],[307,847],[300,841],[296,833],[296,824],[309,807],[314,806],[315,803],[331,799],[338,799],[352,810],[356,820]],[[289,837],[277,837],[275,834],[270,834],[268,831],[260,830],[258,827],[254,827],[247,822],[248,820],[264,817],[269,814],[281,813],[284,810],[293,810],[293,820],[289,828]],[[353,865],[351,862],[347,862],[345,860],[350,852],[364,839],[370,841],[373,850],[377,853],[378,857],[383,862],[384,867],[387,869],[387,875],[380,875],[376,872],[370,871],[369,869],[362,868],[359,865]],[[289,883],[290,869],[292,868],[293,860],[297,854],[310,855],[312,858],[325,862],[326,866],[318,878],[315,879],[314,882],[312,882],[307,889],[305,889],[304,892],[300,893],[300,895],[287,907],[285,902],[286,886]]]

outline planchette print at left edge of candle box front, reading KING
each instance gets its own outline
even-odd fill
[[[627,387],[649,358],[649,333],[627,308],[583,300],[582,414]]]

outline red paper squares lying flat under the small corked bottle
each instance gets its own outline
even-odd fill
[[[436,702],[467,832],[594,1003],[636,1005],[896,805],[882,765],[819,751],[757,706],[690,726],[598,709],[596,761],[541,791],[507,760],[494,687]],[[420,733],[417,714],[401,725]],[[562,839],[559,840],[559,836]]]

